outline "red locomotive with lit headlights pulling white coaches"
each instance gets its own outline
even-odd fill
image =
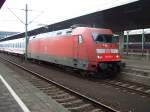
[[[0,51],[25,54],[25,38],[0,42]],[[111,29],[75,27],[32,35],[27,58],[105,76],[118,73],[121,56]]]

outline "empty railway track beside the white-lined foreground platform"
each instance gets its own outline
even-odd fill
[[[10,60],[6,60],[2,57],[0,57],[0,59],[30,73],[30,75],[22,74],[22,76],[71,112],[119,112],[110,106],[71,90]]]

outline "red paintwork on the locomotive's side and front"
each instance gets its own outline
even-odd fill
[[[93,31],[100,34],[112,34],[109,29],[78,27],[73,30],[72,35],[32,39],[29,41],[28,52],[62,58],[84,59],[88,61],[87,69],[90,70],[95,69],[91,66],[97,66],[99,62],[120,61],[119,54],[96,53],[96,49],[118,49],[118,46],[114,43],[96,44],[91,34]],[[82,44],[77,43],[79,35],[83,36]],[[103,58],[98,59],[98,55]],[[117,55],[118,58],[116,58]]]

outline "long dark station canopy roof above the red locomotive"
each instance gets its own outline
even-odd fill
[[[123,32],[125,30],[149,28],[149,7],[149,0],[140,0],[130,4],[50,24],[46,26],[47,28],[41,27],[38,29],[34,29],[29,31],[28,35],[66,29],[73,24],[85,24],[93,27],[109,28],[112,29],[113,32]],[[24,37],[24,33],[14,35],[11,38],[20,37]]]

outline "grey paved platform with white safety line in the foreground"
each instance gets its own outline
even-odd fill
[[[0,62],[0,112],[68,112]]]

